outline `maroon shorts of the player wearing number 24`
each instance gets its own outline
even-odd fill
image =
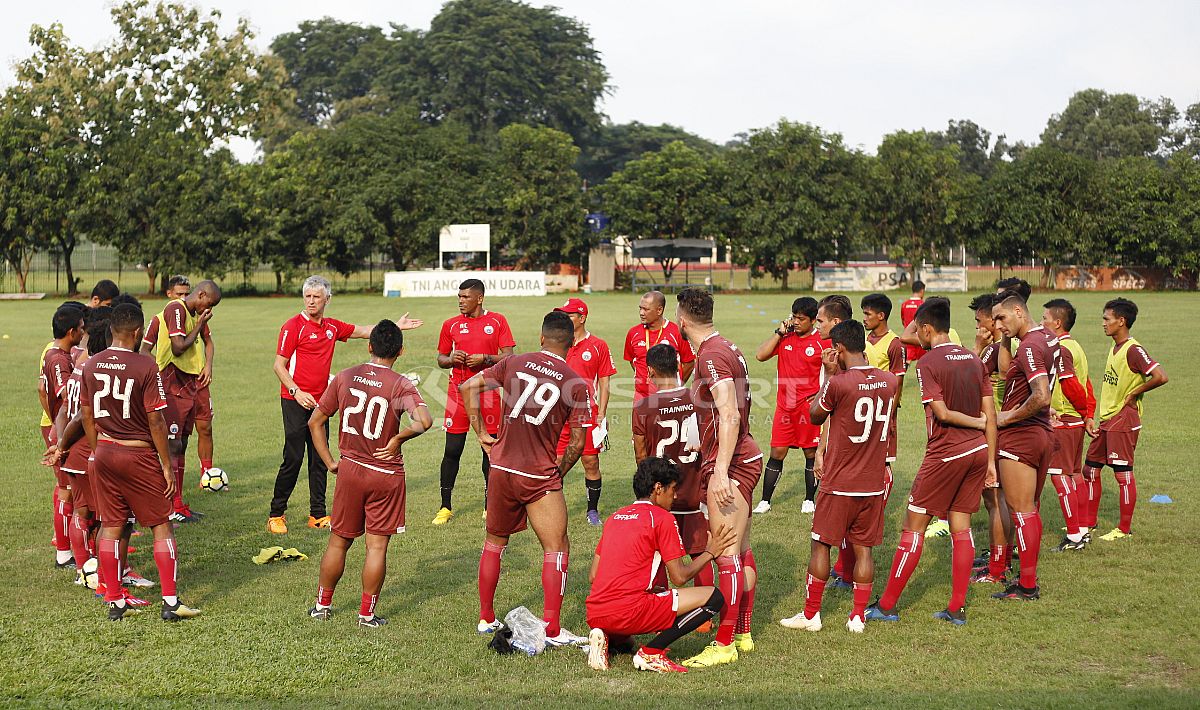
[[[162,525],[170,515],[167,481],[154,449],[101,440],[92,456],[91,498],[104,523],[125,524],[131,517],[146,528]]]

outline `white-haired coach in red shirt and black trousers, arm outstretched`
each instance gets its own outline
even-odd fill
[[[325,510],[325,464],[312,445],[308,416],[329,385],[329,369],[334,362],[334,345],[349,338],[368,338],[373,325],[354,325],[325,317],[325,306],[332,290],[329,281],[310,276],[301,289],[304,311],[293,315],[280,329],[275,350],[275,375],[280,378],[280,401],[283,408],[283,463],[275,477],[271,516],[266,521],[270,532],[288,531],[283,513],[296,486],[305,450],[308,453],[308,527],[329,528]],[[421,320],[406,313],[396,320],[401,330],[420,327]],[[326,437],[329,428],[325,429]]]

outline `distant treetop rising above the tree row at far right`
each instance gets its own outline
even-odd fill
[[[1169,98],[1139,100],[1133,94],[1085,89],[1050,116],[1042,144],[1085,158],[1145,157],[1159,154],[1178,118]]]

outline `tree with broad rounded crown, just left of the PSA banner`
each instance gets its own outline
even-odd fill
[[[782,282],[847,253],[862,233],[865,163],[836,133],[780,121],[726,154],[734,260]]]

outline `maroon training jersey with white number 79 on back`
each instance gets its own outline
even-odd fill
[[[588,386],[566,361],[542,350],[510,355],[484,371],[484,381],[504,389],[494,468],[528,476],[558,476],[558,438],[564,426],[592,421]]]

